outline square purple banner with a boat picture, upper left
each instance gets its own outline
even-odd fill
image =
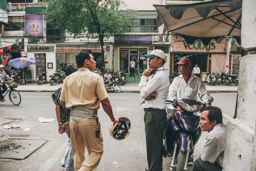
[[[24,15],[25,35],[31,37],[43,35],[43,14]]]

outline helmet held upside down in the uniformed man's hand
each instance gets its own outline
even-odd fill
[[[117,140],[126,139],[129,135],[129,129],[131,127],[131,122],[128,118],[119,118],[118,123],[112,123],[109,128],[109,133],[111,137]]]

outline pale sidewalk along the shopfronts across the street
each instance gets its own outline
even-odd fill
[[[54,92],[56,89],[61,87],[62,84],[55,84],[51,86],[50,84],[42,84],[38,85],[36,83],[29,83],[19,85],[16,88],[17,91],[21,92]],[[237,92],[237,87],[234,84],[230,86],[226,86],[225,84],[221,84],[220,86],[215,85],[208,85],[205,83],[206,88],[208,89],[209,93],[219,93],[219,92]],[[140,92],[138,88],[138,83],[126,83],[124,86],[120,85],[121,92]],[[114,92],[113,90],[109,90],[108,92]]]

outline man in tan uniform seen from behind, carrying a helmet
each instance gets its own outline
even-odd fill
[[[103,137],[96,131],[100,103],[111,121],[116,123],[119,119],[113,115],[102,75],[92,72],[96,63],[90,51],[79,51],[76,63],[78,71],[64,79],[60,103],[71,108],[69,127],[74,168],[94,171],[103,154]],[[85,147],[89,154],[86,160]]]

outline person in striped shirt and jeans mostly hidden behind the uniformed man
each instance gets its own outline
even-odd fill
[[[73,67],[72,65],[67,65],[65,69],[65,75],[66,77],[70,74],[76,72],[78,69],[76,67]],[[70,115],[70,109],[67,109],[65,106],[62,106],[60,104],[60,96],[61,96],[61,88],[54,91],[52,94],[52,99],[56,105],[55,111],[58,121],[58,131],[59,133],[67,133],[68,141],[67,141],[67,149],[64,155],[64,158],[62,159],[62,167],[65,168],[65,171],[74,171],[74,158],[72,154],[71,149],[71,142],[70,142],[70,132],[69,132],[69,115]]]

